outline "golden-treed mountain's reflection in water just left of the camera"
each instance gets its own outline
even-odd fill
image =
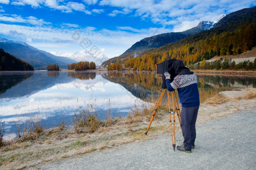
[[[103,78],[122,85],[137,98],[144,98],[161,88],[162,79],[155,78],[155,72],[107,72]]]

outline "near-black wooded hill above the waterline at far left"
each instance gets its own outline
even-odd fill
[[[0,71],[33,71],[34,68],[27,62],[4,52],[0,48]]]

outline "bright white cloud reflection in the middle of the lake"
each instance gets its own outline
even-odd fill
[[[75,79],[69,83],[55,84],[28,98],[0,103],[0,116],[6,116],[6,122],[17,120],[17,115],[20,115],[20,120],[26,120],[28,117],[24,115],[29,114],[31,119],[34,114],[39,114],[41,119],[49,119],[60,112],[73,115],[79,106],[84,108],[92,103],[96,103],[98,111],[106,111],[110,107],[119,109],[118,112],[127,112],[134,106],[135,100],[135,96],[119,84],[96,76],[93,80]]]

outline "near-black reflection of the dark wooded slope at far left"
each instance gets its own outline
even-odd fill
[[[3,94],[6,90],[30,78],[33,74],[34,72],[22,72],[22,74],[19,75],[12,74],[11,72],[0,72],[0,94]]]

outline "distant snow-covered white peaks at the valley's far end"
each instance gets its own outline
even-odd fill
[[[89,50],[76,51],[74,53],[57,51],[57,52],[51,52],[51,54],[56,56],[68,57],[73,60],[76,60],[76,62],[88,61],[88,62],[94,62],[96,65],[101,65],[102,63],[101,59],[99,59],[97,56],[93,56],[93,54],[91,54]]]

